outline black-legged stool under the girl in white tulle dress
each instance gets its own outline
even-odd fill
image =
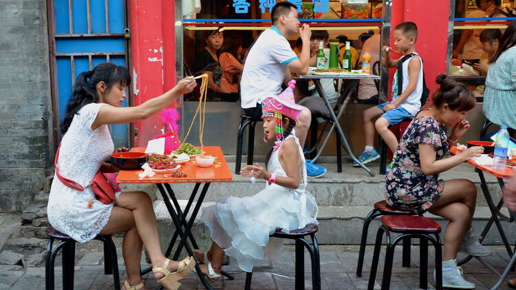
[[[303,290],[305,289],[305,256],[303,246],[308,249],[310,254],[310,260],[312,264],[312,289],[321,290],[321,265],[319,260],[319,244],[315,233],[319,230],[317,225],[307,225],[301,230],[294,230],[288,234],[277,230],[271,237],[276,238],[288,238],[289,240],[296,241],[296,282],[294,289]],[[305,236],[312,238],[312,245],[305,240]],[[248,272],[246,275],[246,286],[245,290],[251,289],[252,272]]]

